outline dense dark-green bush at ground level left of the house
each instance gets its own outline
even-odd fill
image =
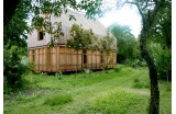
[[[12,46],[3,49],[3,77],[4,93],[23,87],[24,72],[28,71],[28,64],[22,61],[22,49]]]

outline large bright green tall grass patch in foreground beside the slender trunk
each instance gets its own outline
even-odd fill
[[[146,100],[143,100],[140,94],[118,90],[100,96],[90,107],[82,109],[79,114],[132,114],[129,112],[139,114],[145,111],[138,109],[138,106],[145,103]]]

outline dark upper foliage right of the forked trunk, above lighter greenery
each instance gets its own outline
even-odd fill
[[[165,7],[157,13],[148,39],[160,43],[162,47],[172,48],[172,2],[165,1]]]

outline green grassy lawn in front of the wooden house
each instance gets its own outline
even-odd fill
[[[146,67],[79,72],[62,77],[29,75],[30,88],[4,100],[4,114],[147,114]],[[172,113],[172,83],[160,81],[160,114]]]

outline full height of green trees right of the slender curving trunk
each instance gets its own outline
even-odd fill
[[[158,79],[172,80],[172,2],[162,8],[150,31],[147,46],[155,58]]]

